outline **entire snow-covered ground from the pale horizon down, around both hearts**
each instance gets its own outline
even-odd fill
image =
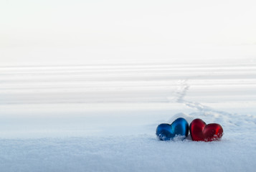
[[[1,171],[255,171],[256,64],[0,67]],[[160,123],[219,123],[169,142]]]

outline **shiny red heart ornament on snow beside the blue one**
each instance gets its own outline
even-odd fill
[[[194,141],[213,141],[222,138],[222,126],[217,123],[206,124],[201,119],[195,119],[189,126],[190,135]]]

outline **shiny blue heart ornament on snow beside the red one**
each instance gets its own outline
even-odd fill
[[[171,140],[178,136],[183,140],[188,136],[189,123],[184,118],[178,118],[173,123],[162,123],[156,128],[156,135],[160,140]]]

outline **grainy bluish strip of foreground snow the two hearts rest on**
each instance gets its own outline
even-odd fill
[[[153,135],[1,139],[4,171],[254,171],[255,141],[162,142]],[[250,137],[249,137],[250,138]]]

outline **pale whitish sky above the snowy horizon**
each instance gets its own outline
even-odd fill
[[[1,0],[0,62],[253,57],[255,9],[255,0]]]

